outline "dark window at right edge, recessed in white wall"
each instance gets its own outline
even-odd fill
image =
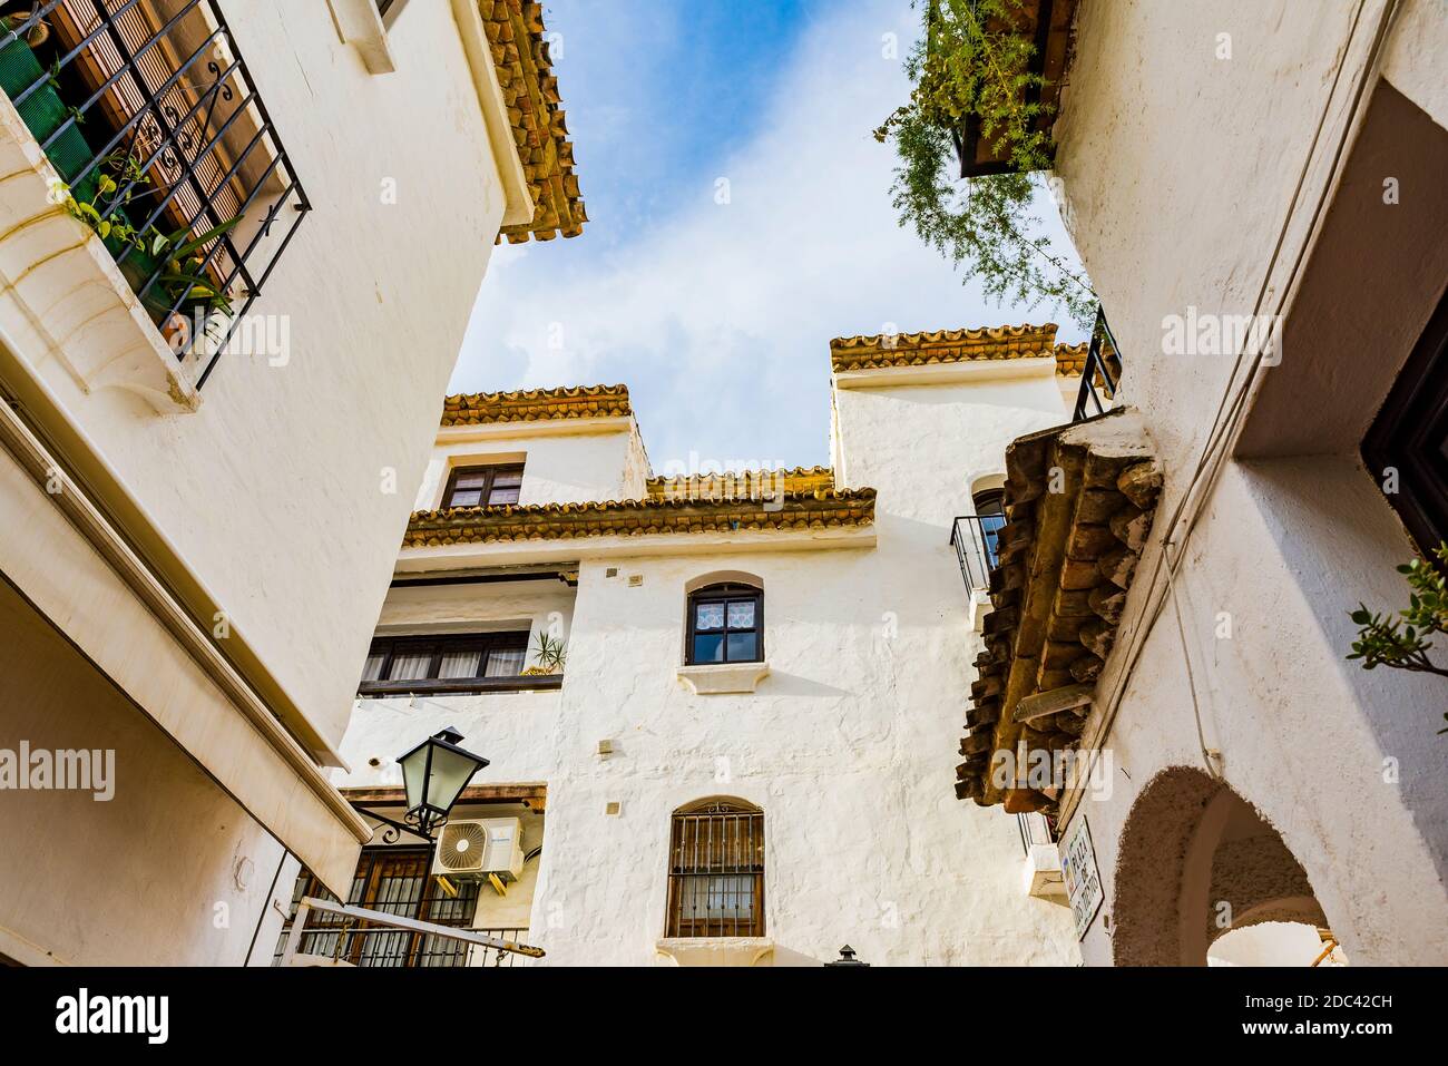
[[[1387,501],[1434,561],[1432,550],[1448,540],[1448,295],[1373,421],[1363,459],[1378,487],[1397,472]]]

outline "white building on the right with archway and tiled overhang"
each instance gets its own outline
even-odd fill
[[[1448,962],[1442,678],[1345,658],[1448,537],[1448,7],[1082,0],[1073,42],[1056,174],[1128,410],[1008,452],[963,791],[1089,831],[1089,965],[1266,923]],[[1063,726],[1096,778],[995,776]]]

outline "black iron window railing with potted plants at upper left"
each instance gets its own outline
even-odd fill
[[[0,16],[0,88],[204,384],[311,207],[219,6],[38,0]]]

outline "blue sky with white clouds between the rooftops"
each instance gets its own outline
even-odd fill
[[[1064,322],[988,304],[896,224],[870,130],[908,93],[908,0],[552,0],[544,20],[591,222],[494,251],[452,391],[623,382],[656,471],[812,465],[831,337]]]

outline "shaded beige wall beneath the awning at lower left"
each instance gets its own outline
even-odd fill
[[[96,789],[0,792],[0,953],[26,966],[240,966],[282,846],[0,584],[0,749],[110,752]],[[282,885],[285,888],[285,885]],[[275,943],[258,941],[271,957]]]

